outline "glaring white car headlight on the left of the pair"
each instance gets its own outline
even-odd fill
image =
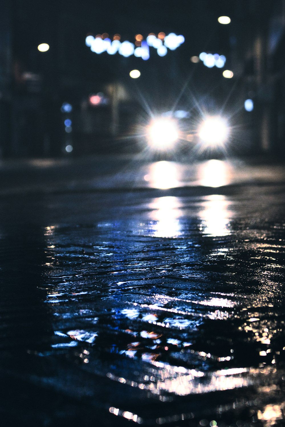
[[[148,140],[150,146],[156,149],[172,148],[179,138],[179,131],[174,120],[160,117],[150,124]]]

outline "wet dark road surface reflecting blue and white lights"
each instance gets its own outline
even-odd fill
[[[3,421],[285,424],[284,166],[0,166]]]

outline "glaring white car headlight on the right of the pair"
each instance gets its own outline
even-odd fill
[[[201,124],[198,135],[207,146],[214,147],[226,141],[229,128],[221,117],[208,117]]]

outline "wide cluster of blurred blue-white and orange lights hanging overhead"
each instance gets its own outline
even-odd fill
[[[97,35],[96,37],[88,35],[85,38],[85,44],[90,47],[92,52],[97,54],[107,52],[109,55],[115,55],[118,52],[125,58],[134,55],[146,61],[150,58],[150,47],[156,49],[159,56],[165,56],[167,49],[175,50],[185,41],[183,35],[176,35],[173,32],[168,35],[160,32],[158,37],[151,33],[146,40],[143,39],[141,34],[137,34],[135,39],[136,42],[133,44],[127,40],[121,42],[118,34],[115,34],[113,41],[109,37],[104,38],[103,35]]]

